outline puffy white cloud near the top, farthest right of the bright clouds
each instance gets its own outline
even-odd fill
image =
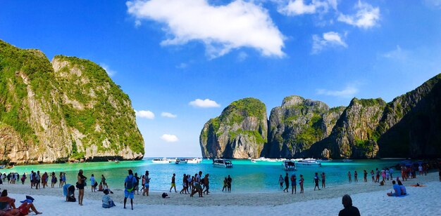
[[[344,15],[341,13],[337,20],[364,29],[374,27],[378,24],[378,20],[380,20],[380,8],[374,8],[370,4],[361,1],[359,1],[354,8],[358,10],[355,15]]]

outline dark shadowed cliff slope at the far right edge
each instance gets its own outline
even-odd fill
[[[380,157],[441,156],[441,74],[387,104],[377,129]]]

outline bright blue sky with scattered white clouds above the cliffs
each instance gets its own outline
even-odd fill
[[[206,121],[255,97],[390,102],[441,73],[441,0],[0,1],[0,39],[101,65],[147,157],[201,156]]]

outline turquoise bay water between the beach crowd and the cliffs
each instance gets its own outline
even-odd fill
[[[163,191],[170,189],[170,181],[173,173],[176,174],[177,189],[182,189],[182,175],[184,173],[194,175],[199,170],[203,175],[209,173],[210,189],[211,191],[221,191],[223,187],[223,179],[228,175],[232,177],[232,190],[240,192],[261,192],[261,191],[278,191],[278,178],[280,175],[285,177],[285,170],[282,169],[281,162],[267,162],[257,161],[251,163],[249,160],[232,160],[234,168],[213,168],[210,160],[204,160],[197,164],[180,164],[175,163],[159,164],[151,163],[151,159],[142,161],[121,161],[114,162],[92,162],[92,163],[60,163],[60,164],[44,164],[44,165],[30,165],[30,166],[15,166],[11,169],[1,170],[2,173],[17,172],[30,173],[31,170],[40,173],[55,172],[58,177],[61,171],[66,173],[66,179],[69,184],[77,181],[76,176],[78,170],[84,170],[84,175],[89,177],[94,174],[97,180],[101,180],[101,174],[106,177],[106,182],[111,189],[123,189],[125,176],[128,175],[128,170],[132,169],[134,173],[143,175],[146,170],[149,170],[151,177],[150,190]],[[349,163],[342,163],[342,161],[333,161],[322,163],[322,167],[298,167],[297,171],[289,172],[289,175],[296,173],[304,175],[304,187],[313,187],[314,173],[326,174],[326,185],[346,184],[347,172],[350,170],[352,178],[354,170],[359,173],[359,181],[363,181],[363,170],[366,169],[368,173],[375,168],[384,168],[395,166],[399,161],[395,160],[354,160]],[[395,170],[397,176],[399,172]],[[368,181],[371,180],[371,175],[368,174]],[[27,179],[29,182],[29,178]],[[87,181],[90,184],[90,181]],[[28,183],[27,183],[28,184]],[[50,184],[50,183],[49,183]]]

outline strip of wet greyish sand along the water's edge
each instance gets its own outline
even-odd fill
[[[428,182],[437,182],[437,173],[428,173],[427,176],[418,175],[416,179],[404,181],[403,184],[409,188],[411,184],[426,184]],[[298,186],[298,185],[297,185]],[[278,185],[275,185],[278,188]],[[8,189],[10,194],[25,194],[30,196],[55,196],[59,200],[64,201],[63,189],[54,187],[46,189],[30,189],[30,184],[3,184],[1,189]],[[187,194],[179,194],[180,187],[178,185],[178,193],[167,191],[150,191],[149,196],[142,196],[135,194],[134,203],[148,204],[148,205],[190,205],[190,206],[216,206],[216,205],[239,205],[239,206],[260,206],[260,205],[287,205],[304,201],[317,201],[328,198],[341,198],[344,194],[364,194],[378,191],[390,191],[392,189],[392,181],[386,181],[385,186],[379,186],[378,183],[373,182],[352,182],[340,185],[327,185],[325,189],[320,191],[313,191],[313,188],[306,188],[304,194],[298,194],[300,189],[297,187],[297,194],[283,193],[278,191],[264,191],[264,192],[235,192],[234,184],[231,193],[223,193],[221,191],[212,191],[209,195],[204,195],[203,198],[194,196],[190,198]],[[291,189],[290,189],[291,191]],[[114,194],[111,194],[113,201],[122,203],[123,190],[113,189]],[[166,192],[170,198],[161,198],[161,194]],[[386,193],[385,192],[385,193]],[[384,194],[385,194],[384,193]],[[78,192],[75,191],[75,197]],[[91,192],[89,186],[85,188],[85,200],[101,201],[103,193],[100,191]],[[75,204],[74,204],[75,205]]]

